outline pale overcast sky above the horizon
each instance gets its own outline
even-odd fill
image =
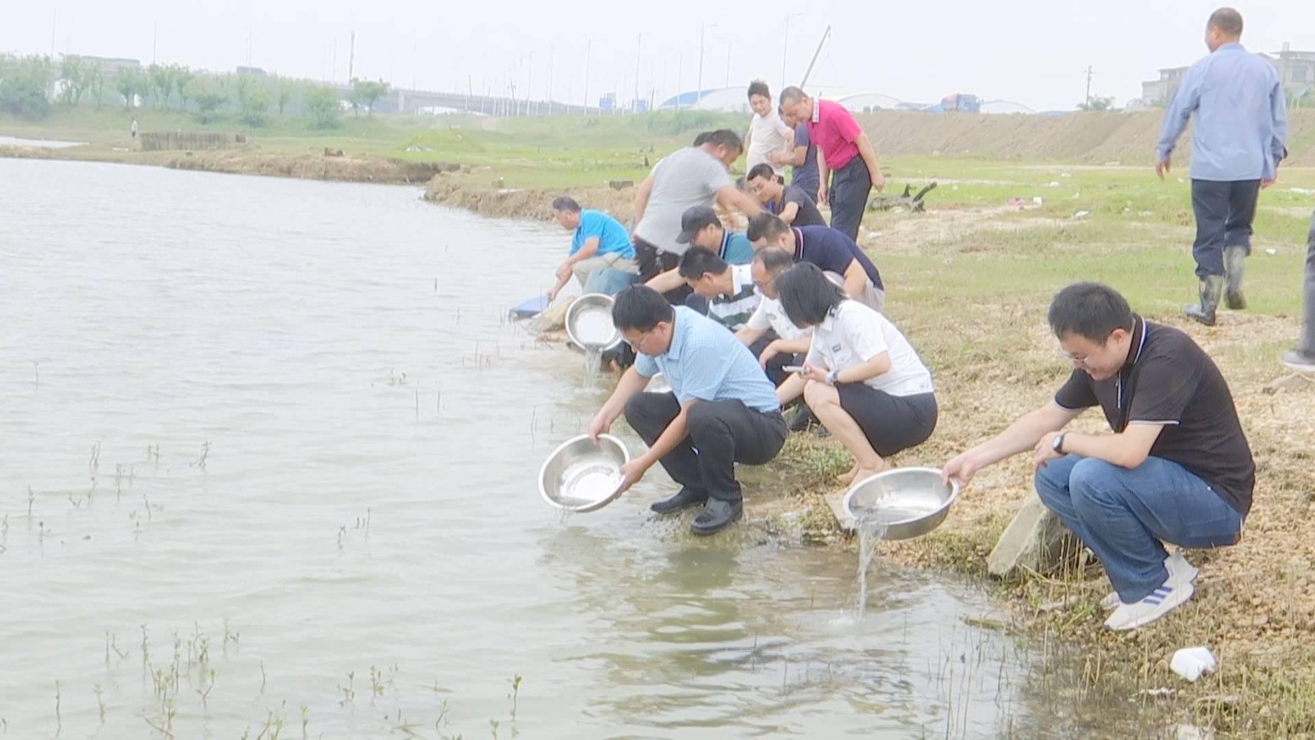
[[[789,21],[786,13],[797,13]],[[1160,67],[1205,54],[1199,0],[935,0],[920,3],[760,0],[0,0],[0,50],[130,57],[230,71],[245,65],[284,75],[346,79],[351,32],[355,75],[402,87],[506,92],[579,103],[588,93],[640,96],[694,90],[700,29],[704,87],[767,79],[773,92],[802,78],[822,32],[831,38],[809,87],[823,93],[882,92],[936,101],[949,92],[1070,109],[1093,93],[1119,104]],[[1315,50],[1315,1],[1237,7],[1255,51]],[[639,34],[643,34],[640,41]],[[786,46],[786,38],[789,41]],[[337,46],[337,65],[334,49]]]

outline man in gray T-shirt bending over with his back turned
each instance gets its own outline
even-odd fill
[[[680,219],[692,205],[721,204],[746,216],[761,212],[757,201],[738,190],[727,172],[744,151],[744,142],[730,129],[702,133],[688,146],[663,158],[635,192],[635,258],[639,280],[648,282],[672,270],[688,244],[680,236]],[[673,304],[684,304],[688,286],[664,294]]]

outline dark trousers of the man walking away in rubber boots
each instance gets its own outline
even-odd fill
[[[1258,196],[1260,180],[1191,180],[1191,209],[1197,215],[1191,257],[1198,278],[1224,274],[1226,248],[1244,246],[1251,255],[1251,223]]]

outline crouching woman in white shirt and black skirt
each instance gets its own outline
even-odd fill
[[[790,323],[813,329],[803,370],[786,379],[776,398],[784,404],[803,394],[822,425],[853,454],[842,483],[888,470],[885,458],[931,436],[931,373],[894,324],[810,262],[777,275],[776,292]]]

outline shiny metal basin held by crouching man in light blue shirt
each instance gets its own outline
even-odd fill
[[[621,466],[626,462],[630,452],[611,435],[598,435],[597,445],[588,435],[571,437],[539,469],[539,494],[567,511],[600,510],[619,494]]]

